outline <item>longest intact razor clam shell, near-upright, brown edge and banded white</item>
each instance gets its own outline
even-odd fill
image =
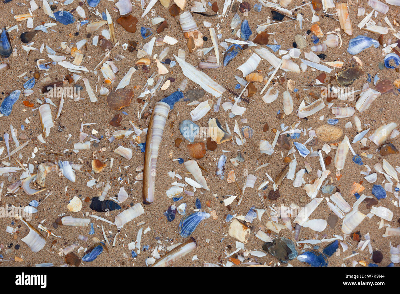
[[[143,178],[143,200],[145,204],[150,204],[154,201],[158,148],[162,140],[162,134],[169,111],[169,104],[157,102],[152,111],[148,125],[146,150],[144,152]]]

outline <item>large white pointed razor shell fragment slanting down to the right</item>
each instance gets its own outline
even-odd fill
[[[174,55],[174,58],[178,62],[179,66],[182,68],[182,72],[186,78],[192,80],[200,87],[202,87],[206,92],[210,93],[212,96],[218,98],[225,92],[225,88],[220,84],[212,80],[204,72],[198,70],[188,62],[182,60],[178,56]]]

